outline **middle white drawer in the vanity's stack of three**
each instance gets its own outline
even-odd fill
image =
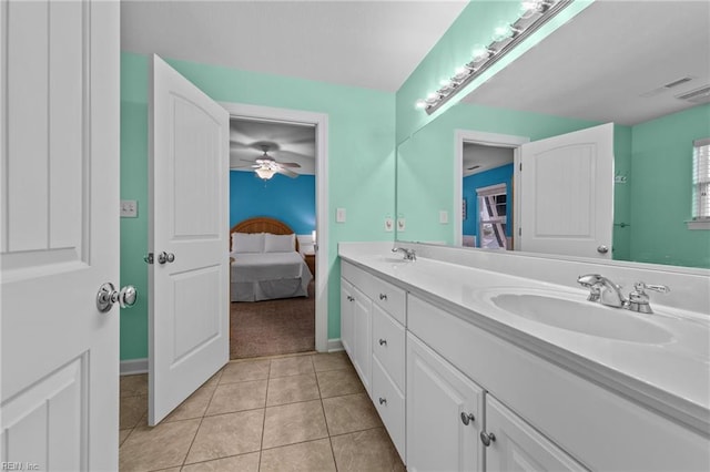
[[[373,307],[373,356],[400,391],[405,389],[405,330],[378,306]]]

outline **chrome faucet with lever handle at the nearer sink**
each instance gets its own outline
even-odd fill
[[[653,290],[661,294],[668,294],[670,291],[670,288],[665,285],[648,285],[642,281],[637,281],[633,284],[633,291],[629,294],[629,298],[627,299],[621,294],[621,287],[619,285],[599,274],[579,276],[577,283],[589,289],[589,297],[587,298],[589,301],[642,314],[653,312],[646,290]]]

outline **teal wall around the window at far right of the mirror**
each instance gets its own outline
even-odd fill
[[[710,268],[710,230],[688,229],[692,142],[710,137],[710,104],[637,124],[629,179],[630,258]]]

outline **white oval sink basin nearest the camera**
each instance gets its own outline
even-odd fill
[[[486,298],[511,315],[568,331],[642,343],[666,343],[673,339],[670,331],[645,319],[649,315],[571,299],[571,294],[510,291],[489,294]]]

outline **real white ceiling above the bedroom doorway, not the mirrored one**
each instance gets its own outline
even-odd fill
[[[395,92],[466,0],[121,3],[121,49]]]

